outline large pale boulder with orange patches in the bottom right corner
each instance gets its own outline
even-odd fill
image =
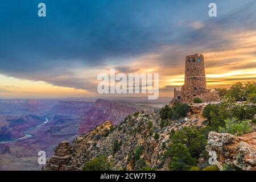
[[[235,137],[228,133],[210,132],[207,151],[215,151],[216,164],[224,169],[225,165],[242,170],[256,171],[256,132]]]

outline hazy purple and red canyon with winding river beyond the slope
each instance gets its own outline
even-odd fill
[[[0,100],[5,108],[0,109],[0,170],[40,170],[38,151],[46,151],[48,158],[63,140],[72,142],[106,119],[117,125],[135,111],[150,113],[155,105],[103,99]]]

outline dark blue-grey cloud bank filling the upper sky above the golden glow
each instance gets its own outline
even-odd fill
[[[45,0],[46,18],[37,16],[39,2],[1,2],[1,74],[92,89],[71,68],[115,65],[119,72],[136,72],[122,61],[158,51],[159,65],[178,67],[190,53],[228,49],[232,40],[214,28],[255,29],[250,0],[216,1],[215,19],[208,16],[210,1]],[[204,26],[193,27],[195,21]],[[175,48],[161,52],[162,46]]]

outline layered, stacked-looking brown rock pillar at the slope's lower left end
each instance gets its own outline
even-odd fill
[[[69,142],[61,142],[55,149],[55,154],[47,162],[44,170],[65,171],[69,169],[69,160],[71,159],[72,148]]]

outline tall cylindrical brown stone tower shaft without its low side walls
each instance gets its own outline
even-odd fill
[[[209,92],[205,78],[203,55],[195,54],[186,57],[185,81],[181,92],[184,98],[196,97]]]

